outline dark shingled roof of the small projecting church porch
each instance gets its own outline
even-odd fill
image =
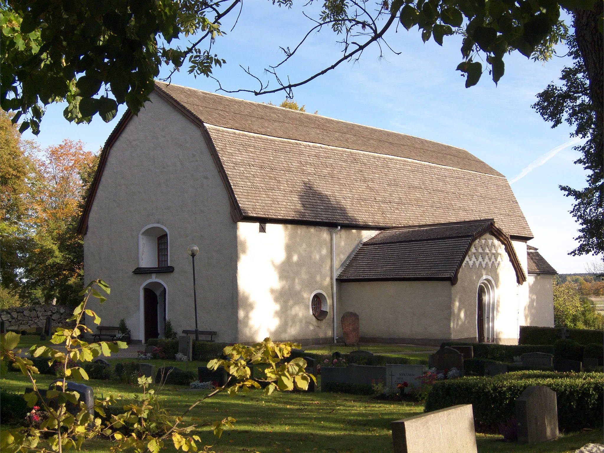
[[[472,243],[487,233],[503,243],[516,280],[524,283],[526,275],[512,242],[493,219],[381,231],[361,245],[338,280],[448,280],[455,284]]]

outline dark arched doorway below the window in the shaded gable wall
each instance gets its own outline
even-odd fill
[[[166,295],[163,282],[158,280],[149,280],[141,287],[141,336],[145,343],[164,336]]]

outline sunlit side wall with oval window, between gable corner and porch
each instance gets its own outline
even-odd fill
[[[332,231],[325,226],[237,223],[239,341],[333,338]],[[371,231],[336,232],[336,269]],[[315,291],[326,295],[329,313],[310,310]],[[338,294],[337,318],[344,313]]]

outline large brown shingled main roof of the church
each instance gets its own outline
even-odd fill
[[[178,85],[156,92],[204,133],[236,221],[382,229],[493,217],[533,236],[507,179],[466,150]],[[125,123],[101,153],[80,233]]]

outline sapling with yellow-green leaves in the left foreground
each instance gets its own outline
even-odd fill
[[[108,438],[112,446],[112,453],[122,451],[152,452],[159,453],[164,448],[165,442],[172,440],[175,448],[183,451],[198,451],[197,442],[201,442],[198,435],[189,435],[196,425],[186,426],[184,417],[193,408],[204,400],[213,397],[223,391],[230,396],[236,396],[240,391],[248,392],[252,388],[260,388],[260,382],[265,382],[265,394],[273,391],[307,390],[310,379],[315,377],[306,373],[306,361],[301,358],[285,362],[291,355],[291,350],[299,345],[291,342],[274,343],[270,338],[253,346],[236,344],[228,346],[223,350],[224,359],[214,359],[208,363],[208,368],[217,370],[223,367],[229,374],[228,379],[222,387],[218,387],[193,403],[181,416],[172,416],[162,406],[158,392],[150,389],[152,377],[138,377],[138,385],[142,388],[142,394],[126,403],[122,400],[121,409],[124,413],[108,417],[106,410],[108,406],[118,405],[112,396],[94,400],[94,413],[89,412],[85,402],[78,401],[79,393],[66,391],[68,389],[67,377],[88,380],[88,374],[80,367],[81,362],[90,362],[103,354],[110,356],[112,352],[127,347],[126,343],[97,342],[88,343],[83,341],[83,333],[92,333],[85,324],[83,316],[90,316],[95,324],[100,324],[100,317],[88,304],[91,297],[96,298],[99,303],[104,303],[106,297],[103,291],[109,294],[109,286],[103,280],[94,280],[80,293],[84,300],[74,309],[74,315],[69,321],[75,321],[72,329],[60,328],[54,333],[51,342],[62,344],[62,350],[53,349],[48,346],[34,345],[29,353],[34,357],[48,358],[48,364],[58,363],[62,367],[61,381],[56,382],[55,388],[48,390],[45,394],[39,390],[36,384],[35,374],[39,373],[33,362],[28,358],[19,356],[21,350],[16,350],[20,335],[8,332],[0,336],[0,374],[4,377],[8,371],[8,362],[11,366],[19,368],[33,386],[33,391],[25,394],[28,406],[36,404],[42,406],[46,411],[48,419],[39,425],[28,428],[4,430],[0,436],[0,449],[2,452],[60,452],[63,449],[74,448],[80,451],[86,440],[97,436]],[[262,379],[252,379],[248,364],[265,364]],[[315,381],[316,382],[316,381]],[[53,403],[51,403],[53,401]],[[98,416],[97,416],[98,414]],[[104,420],[104,421],[103,421]],[[213,423],[214,435],[220,437],[226,428],[232,428],[236,420],[233,417],[225,417]],[[127,434],[124,434],[123,431]],[[50,437],[48,437],[48,435]],[[48,441],[43,440],[48,437]],[[203,449],[211,453],[208,446]]]

